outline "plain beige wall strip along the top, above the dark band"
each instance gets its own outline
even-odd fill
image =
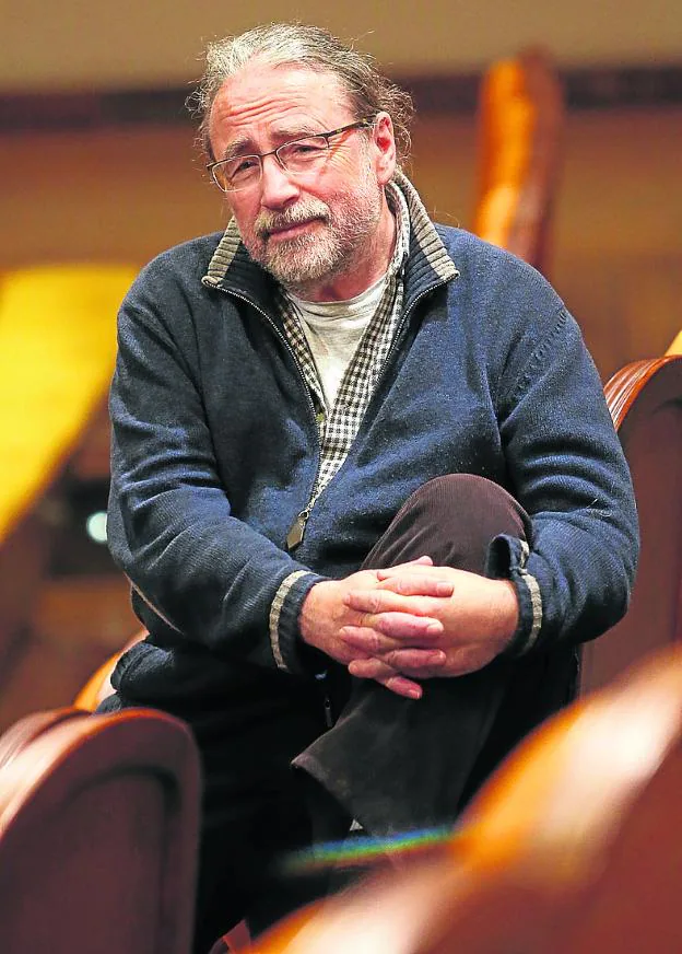
[[[3,4],[0,90],[134,88],[192,80],[213,36],[302,20],[357,38],[386,69],[457,72],[542,43],[568,63],[679,60],[679,0],[23,0]]]

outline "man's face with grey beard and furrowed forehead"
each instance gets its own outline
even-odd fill
[[[263,153],[356,118],[332,73],[256,61],[215,97],[211,144],[215,159]],[[349,130],[304,174],[267,156],[260,182],[227,194],[251,257],[298,292],[351,272],[372,254],[385,211],[383,187],[395,163],[384,152],[372,130]]]

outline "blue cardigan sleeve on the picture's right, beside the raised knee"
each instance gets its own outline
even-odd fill
[[[511,489],[532,525],[529,546],[498,537],[490,554],[519,597],[509,653],[593,639],[627,608],[638,525],[597,369],[565,307],[503,395],[499,417]]]

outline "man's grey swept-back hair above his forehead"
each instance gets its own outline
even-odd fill
[[[215,159],[209,138],[213,101],[225,80],[254,59],[269,66],[295,63],[333,73],[348,92],[356,119],[374,117],[380,112],[390,115],[398,162],[409,159],[413,114],[409,93],[384,77],[368,54],[344,45],[328,31],[302,23],[271,23],[239,36],[227,36],[207,48],[205,72],[188,106],[200,118],[199,141],[211,160]]]

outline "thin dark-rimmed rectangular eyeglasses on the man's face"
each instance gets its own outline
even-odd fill
[[[316,132],[315,136],[292,139],[291,142],[284,142],[270,152],[221,159],[209,163],[207,170],[219,189],[224,193],[236,193],[260,182],[262,161],[267,155],[273,155],[285,172],[294,175],[311,172],[316,165],[321,164],[329,152],[329,140],[332,136],[350,132],[351,129],[367,129],[372,125],[372,119],[360,119],[357,123],[349,123],[348,126],[340,126],[329,132]]]

